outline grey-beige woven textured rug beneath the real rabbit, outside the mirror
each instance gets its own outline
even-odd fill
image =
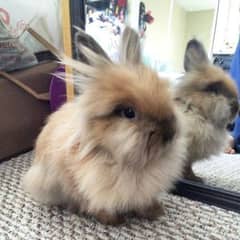
[[[169,194],[162,196],[164,217],[154,222],[128,219],[120,227],[40,205],[20,187],[31,159],[30,152],[0,164],[0,240],[240,239],[239,214]]]

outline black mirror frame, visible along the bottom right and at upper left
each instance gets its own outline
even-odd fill
[[[65,0],[63,0],[65,1]],[[71,24],[85,28],[85,0],[70,1]],[[216,18],[216,17],[215,17]],[[215,26],[214,26],[215,28]],[[72,30],[72,37],[74,30]],[[72,45],[73,56],[74,46]],[[231,210],[240,213],[240,193],[231,192],[222,188],[212,187],[201,183],[181,179],[171,193],[189,198],[194,201],[200,201],[209,205]]]

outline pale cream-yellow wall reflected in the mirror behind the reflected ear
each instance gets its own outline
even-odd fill
[[[174,71],[183,71],[183,57],[187,42],[192,38],[200,40],[206,51],[210,49],[214,10],[185,11],[174,1],[171,24],[170,59]]]

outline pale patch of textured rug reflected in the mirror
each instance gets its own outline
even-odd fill
[[[221,154],[194,164],[195,174],[208,185],[240,193],[240,154]]]

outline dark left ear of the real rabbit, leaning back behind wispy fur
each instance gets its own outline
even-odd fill
[[[105,58],[109,62],[111,61],[107,53],[102,49],[102,47],[95,41],[93,37],[85,33],[81,28],[74,26],[74,28],[77,30],[74,38],[75,46],[79,50],[79,58],[80,60],[83,60],[87,63],[87,59],[82,54],[82,46],[87,47],[88,49],[92,50],[97,55]]]

